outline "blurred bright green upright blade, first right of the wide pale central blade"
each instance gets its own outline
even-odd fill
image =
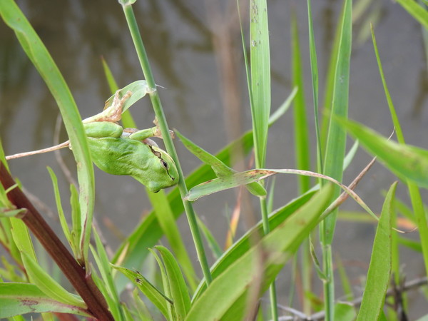
[[[303,90],[303,67],[300,58],[299,30],[295,11],[291,15],[292,83],[299,88],[294,99],[294,137],[296,168],[310,170],[310,142],[306,117],[305,91]],[[299,176],[299,193],[310,189],[310,177]]]

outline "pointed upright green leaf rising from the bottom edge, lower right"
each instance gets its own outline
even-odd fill
[[[391,211],[397,182],[387,193],[376,235],[374,236],[372,258],[367,272],[367,282],[357,321],[378,320],[383,310],[385,295],[391,275]]]

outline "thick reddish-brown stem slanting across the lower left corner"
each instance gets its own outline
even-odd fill
[[[2,162],[0,162],[0,181],[4,189],[15,185],[14,179],[11,178],[9,171]],[[83,301],[86,302],[88,312],[98,320],[114,321],[108,310],[106,300],[98,290],[98,287],[96,287],[91,275],[86,275],[86,269],[79,265],[73,255],[68,252],[48,223],[34,208],[29,199],[26,198],[26,195],[19,188],[14,188],[8,193],[8,198],[16,208],[26,209],[24,215],[19,215],[18,218],[21,218],[46,249],[46,252],[54,259],[63,274],[71,282],[71,285],[73,285]]]

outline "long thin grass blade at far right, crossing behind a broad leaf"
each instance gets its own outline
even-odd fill
[[[392,123],[394,123],[395,132],[397,133],[397,141],[401,144],[405,144],[402,128],[399,123],[399,119],[397,117],[394,104],[392,103],[392,98],[389,94],[387,81],[385,80],[385,77],[384,77],[382,62],[380,61],[379,51],[377,50],[377,42],[376,42],[376,37],[374,36],[373,26],[371,26],[371,30],[372,30],[374,54],[376,55],[380,78],[382,79],[382,85],[384,88],[385,97],[387,98],[389,113],[391,113]],[[421,196],[421,193],[419,192],[419,189],[417,188],[417,185],[407,180],[407,188],[409,189],[409,196],[410,196],[410,200],[412,201],[414,216],[417,218],[417,226],[419,228],[419,235],[421,238],[422,251],[424,255],[425,273],[426,275],[428,275],[428,225],[427,225],[427,217],[425,216],[424,203],[422,201],[422,196]],[[395,253],[397,253],[398,255],[397,251]],[[395,277],[399,277],[399,275],[395,275]]]

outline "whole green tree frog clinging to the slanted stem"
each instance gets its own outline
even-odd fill
[[[116,123],[130,96],[128,91],[119,98],[117,91],[111,106],[83,120],[93,163],[106,173],[132,176],[152,192],[176,185],[179,175],[173,159],[148,139],[161,137],[158,127],[138,131]]]

